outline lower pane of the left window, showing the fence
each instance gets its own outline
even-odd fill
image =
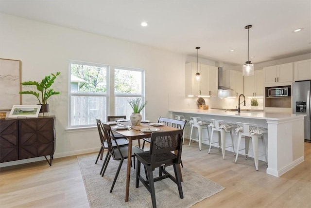
[[[95,125],[95,118],[106,120],[105,96],[71,96],[71,126]]]

